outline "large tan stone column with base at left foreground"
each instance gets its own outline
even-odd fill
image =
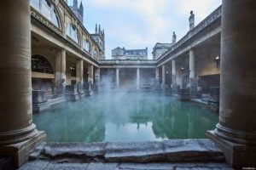
[[[20,167],[46,137],[32,122],[30,3],[1,1],[0,15],[0,155]]]

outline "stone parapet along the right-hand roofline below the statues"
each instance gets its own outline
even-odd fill
[[[189,39],[195,37],[199,34],[202,30],[204,30],[207,26],[210,26],[214,21],[218,20],[221,17],[221,9],[222,6],[219,6],[212,14],[209,14],[205,20],[202,20],[195,28],[189,31],[184,37],[182,37],[178,42],[176,42],[171,49],[166,51],[165,54],[162,54],[157,61],[164,59],[168,54],[171,54],[172,51],[176,50],[177,48],[181,47],[185,42],[188,42]]]

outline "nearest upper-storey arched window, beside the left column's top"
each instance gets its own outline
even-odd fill
[[[33,8],[44,15],[45,18],[50,20],[55,26],[61,28],[60,17],[56,12],[55,5],[49,0],[30,0]]]

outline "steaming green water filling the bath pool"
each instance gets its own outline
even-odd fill
[[[201,139],[216,113],[156,93],[105,93],[33,115],[50,142]]]

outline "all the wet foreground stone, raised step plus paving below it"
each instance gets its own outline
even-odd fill
[[[222,169],[224,153],[208,139],[39,145],[20,169]]]

